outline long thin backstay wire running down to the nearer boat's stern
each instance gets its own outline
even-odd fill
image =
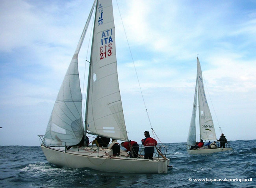
[[[117,2],[117,0],[116,0],[116,2]],[[121,16],[121,12],[120,12],[118,3],[117,3],[117,8],[118,8],[119,15],[120,15],[121,21],[122,21],[122,16]],[[124,23],[123,23],[123,21],[122,21],[122,26],[123,26],[123,28],[124,28]],[[141,84],[140,84],[140,82],[139,82],[139,77],[138,77],[138,74],[137,74],[137,70],[136,70],[135,63],[134,63],[134,58],[133,58],[133,56],[132,56],[132,51],[131,51],[131,48],[130,48],[130,44],[129,44],[129,42],[128,42],[128,38],[127,38],[127,35],[126,35],[125,28],[124,28],[124,34],[125,34],[126,41],[127,41],[127,44],[128,44],[128,48],[129,48],[129,50],[130,50],[130,54],[131,54],[131,57],[132,57],[132,63],[133,63],[133,65],[134,65],[134,70],[135,70],[135,73],[136,73],[136,76],[137,76],[137,81],[138,81],[138,83],[139,83],[139,89],[140,89],[140,91],[141,91],[141,96],[142,96],[143,103],[144,103],[144,106],[145,106],[145,109],[146,109],[146,112],[147,112],[148,121],[149,121],[150,127],[151,127],[151,129],[152,129],[153,136],[154,136],[154,138],[155,138],[156,133],[155,133],[154,130],[153,130],[153,127],[152,127],[152,124],[151,124],[151,121],[150,121],[150,118],[149,118],[149,115],[148,115],[148,110],[147,110],[146,103],[145,103],[145,100],[144,100],[144,97],[143,97],[143,94],[142,94]],[[156,136],[156,137],[158,138],[158,136]],[[160,141],[159,138],[158,138],[158,140]],[[160,143],[161,143],[161,141],[160,141]],[[162,143],[161,143],[161,144],[162,144]]]

